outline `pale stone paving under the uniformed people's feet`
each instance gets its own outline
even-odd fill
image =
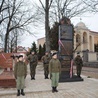
[[[83,82],[59,83],[58,93],[51,92],[51,81],[45,80],[42,65],[38,65],[36,80],[26,78],[25,96],[16,96],[16,88],[0,88],[0,98],[98,98],[98,79],[82,76]]]

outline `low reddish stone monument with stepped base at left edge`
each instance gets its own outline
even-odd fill
[[[0,74],[0,87],[15,87],[16,81],[13,75],[13,59],[12,53],[0,54],[0,67],[3,72]]]

